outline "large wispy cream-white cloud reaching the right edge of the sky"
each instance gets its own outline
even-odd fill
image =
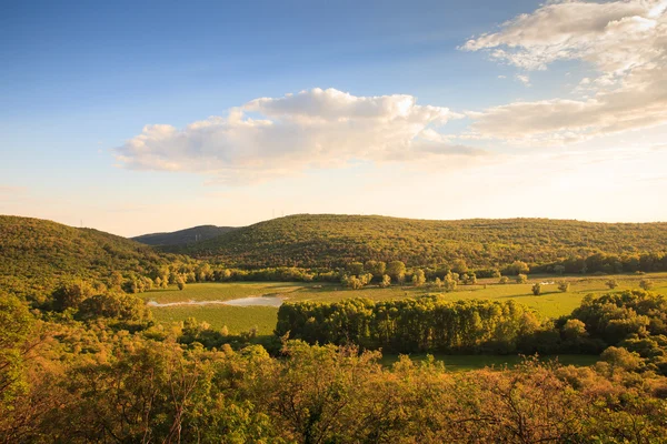
[[[527,70],[580,60],[591,98],[516,102],[471,114],[474,133],[530,143],[567,143],[667,123],[667,0],[560,1],[470,39],[462,49]]]

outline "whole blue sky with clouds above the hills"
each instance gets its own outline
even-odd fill
[[[667,221],[667,0],[0,0],[0,213]]]

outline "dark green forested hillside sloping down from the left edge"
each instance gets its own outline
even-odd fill
[[[146,274],[169,258],[150,246],[92,229],[0,215],[0,285],[48,291],[60,278]]]

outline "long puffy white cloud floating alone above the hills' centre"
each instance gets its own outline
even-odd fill
[[[147,125],[115,151],[129,169],[256,181],[352,160],[479,154],[432,129],[460,117],[447,108],[419,105],[412,95],[356,97],[313,89],[256,99],[227,117],[211,117],[180,130]]]

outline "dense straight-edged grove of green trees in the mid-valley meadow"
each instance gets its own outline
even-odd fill
[[[276,334],[308,343],[354,343],[369,349],[498,352],[517,349],[539,327],[535,314],[514,301],[458,301],[422,296],[400,301],[344,300],[331,304],[285,303]]]

